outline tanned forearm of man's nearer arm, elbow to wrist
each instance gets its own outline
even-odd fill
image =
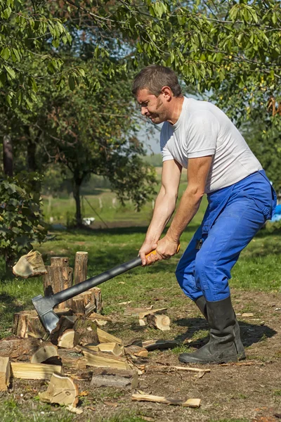
[[[185,227],[190,223],[195,216],[200,203],[202,195],[188,191],[188,188],[183,193],[180,205],[176,211],[171,226],[167,231],[166,236],[169,236],[172,241],[178,242]]]

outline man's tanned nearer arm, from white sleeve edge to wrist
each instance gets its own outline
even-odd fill
[[[166,234],[174,243],[179,241],[183,230],[200,206],[212,159],[212,156],[207,156],[188,160],[188,187],[183,193],[181,203]]]

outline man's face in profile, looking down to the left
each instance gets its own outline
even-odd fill
[[[163,94],[155,96],[148,89],[140,89],[136,100],[141,106],[141,114],[148,117],[153,123],[159,124],[166,120],[166,110]]]

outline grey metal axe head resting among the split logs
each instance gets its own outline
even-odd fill
[[[51,331],[53,331],[59,321],[58,315],[53,312],[53,307],[55,306],[55,303],[53,301],[52,296],[36,296],[32,299],[32,303],[34,305],[34,308],[37,310],[37,314],[40,318],[42,325],[44,326],[46,331],[51,333]]]

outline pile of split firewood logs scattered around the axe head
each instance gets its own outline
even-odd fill
[[[37,264],[30,264],[32,260]],[[41,273],[45,295],[72,286],[73,271],[67,258],[53,257],[49,267],[39,260],[41,255],[31,252],[20,259],[20,268],[16,265],[13,271],[25,277]],[[77,252],[74,283],[84,281],[86,276],[87,254]],[[15,314],[14,335],[0,340],[0,390],[8,389],[11,378],[48,380],[48,389],[39,395],[40,399],[65,404],[77,411],[77,381],[135,389],[138,377],[145,372],[148,352],[178,344],[173,340],[123,342],[100,328],[114,322],[110,316],[100,314],[101,310],[100,289],[92,288],[58,305],[55,312],[60,320],[51,333],[45,331],[36,311]],[[141,325],[150,324],[165,330],[169,329],[169,318],[162,314],[165,310],[136,309],[136,312]]]

